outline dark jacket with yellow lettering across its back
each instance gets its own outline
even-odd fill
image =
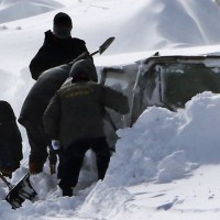
[[[125,96],[96,82],[76,82],[62,87],[44,114],[45,132],[67,148],[77,140],[105,136],[105,108],[129,112]]]

